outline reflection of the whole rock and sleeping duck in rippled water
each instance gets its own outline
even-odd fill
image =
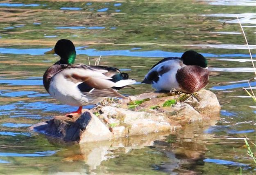
[[[193,125],[187,124],[182,130],[174,131],[171,134],[168,131],[122,137],[111,141],[73,144],[67,146],[67,149],[59,151],[57,155],[63,157],[63,162],[85,163],[88,166],[86,169],[91,174],[97,173],[99,169],[100,172],[103,170],[105,174],[111,174],[112,168],[120,166],[116,162],[122,159],[127,159],[129,162],[130,155],[135,156],[134,150],[140,149],[142,152],[144,151],[143,156],[149,156],[149,159],[152,159],[150,160],[152,162],[147,163],[153,167],[156,173],[196,174],[199,173],[196,166],[204,164],[207,140],[214,137],[213,134],[204,131],[209,126],[214,126],[218,119],[219,115],[211,116],[211,120],[197,122]],[[48,140],[53,144],[61,142],[52,137],[48,137]],[[160,160],[162,159],[161,163],[156,163],[155,154],[157,154],[156,157],[160,157]],[[131,166],[129,165],[129,167]],[[81,170],[76,171],[81,172]]]

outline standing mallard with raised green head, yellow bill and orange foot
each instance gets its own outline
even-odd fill
[[[60,60],[50,66],[43,75],[46,91],[64,104],[79,106],[77,111],[68,115],[82,113],[82,106],[96,104],[105,97],[121,97],[117,92],[124,86],[134,84],[127,73],[107,66],[73,65],[75,46],[70,40],[59,40],[54,49],[45,54],[56,53]]]

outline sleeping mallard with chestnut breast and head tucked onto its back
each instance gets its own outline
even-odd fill
[[[186,51],[181,58],[164,58],[145,75],[142,83],[152,84],[158,91],[176,89],[194,93],[204,88],[209,81],[207,61],[195,51]]]

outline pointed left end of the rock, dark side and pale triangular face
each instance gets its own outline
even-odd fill
[[[43,127],[45,134],[59,137],[64,141],[97,142],[111,140],[113,137],[105,124],[90,111],[85,111],[82,115],[71,119],[66,116],[55,116],[47,124],[36,124],[30,129],[38,131],[39,127]]]

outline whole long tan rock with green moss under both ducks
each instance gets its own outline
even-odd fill
[[[116,106],[84,110],[82,115],[55,116],[30,129],[79,143],[112,140],[182,128],[195,121],[219,117],[220,104],[214,93],[143,93],[119,100]],[[117,107],[119,106],[119,107]],[[122,107],[120,107],[122,106]],[[96,117],[97,115],[97,117]]]

